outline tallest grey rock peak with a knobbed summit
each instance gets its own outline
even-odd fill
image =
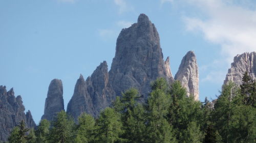
[[[117,96],[136,88],[146,99],[151,81],[166,78],[166,71],[156,27],[145,14],[140,14],[138,22],[124,28],[117,38],[109,84]]]

